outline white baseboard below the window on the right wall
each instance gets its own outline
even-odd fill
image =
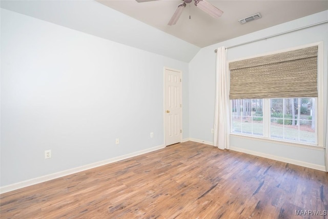
[[[275,161],[281,161],[281,162],[285,162],[285,163],[289,163],[289,164],[295,164],[295,165],[302,166],[302,167],[308,167],[311,169],[326,171],[325,166],[311,164],[311,163],[307,163],[307,162],[303,162],[303,161],[297,161],[297,160],[293,160],[293,159],[286,158],[286,157],[275,156],[272,154],[261,153],[261,152],[251,151],[251,150],[237,148],[237,147],[230,147],[230,150],[247,153],[247,154],[252,154],[252,155],[260,156],[260,157],[264,157],[264,158],[269,158],[269,159],[275,160]]]

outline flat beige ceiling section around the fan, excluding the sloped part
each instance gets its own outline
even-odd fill
[[[97,0],[112,9],[127,14],[159,30],[174,35],[197,47],[206,47],[227,39],[272,27],[328,9],[328,1],[214,1],[223,11],[216,19],[198,9],[194,2],[187,4],[174,26],[168,22],[181,0],[161,0],[137,3],[134,0]],[[238,19],[260,12],[261,19],[239,24]],[[191,15],[191,19],[189,19]]]

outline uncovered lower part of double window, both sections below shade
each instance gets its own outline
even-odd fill
[[[317,145],[316,103],[315,97],[233,99],[231,132]]]

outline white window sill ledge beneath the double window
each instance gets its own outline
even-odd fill
[[[318,146],[318,145],[302,144],[302,143],[296,143],[296,142],[285,142],[285,141],[275,140],[272,138],[256,137],[256,136],[242,135],[242,134],[236,134],[236,133],[230,133],[230,136],[245,138],[245,139],[250,139],[250,140],[256,140],[256,141],[261,141],[261,142],[269,142],[269,143],[280,144],[280,145],[288,145],[288,146],[293,146],[293,147],[315,149],[315,150],[319,150],[319,151],[324,151],[324,149],[325,149],[324,147]]]

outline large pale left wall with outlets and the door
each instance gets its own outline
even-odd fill
[[[1,34],[1,187],[163,145],[164,67],[189,136],[188,63],[5,9]]]

